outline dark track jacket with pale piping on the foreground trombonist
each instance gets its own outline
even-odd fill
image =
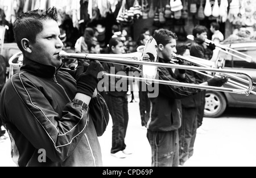
[[[75,95],[76,80],[67,72],[23,61],[0,99],[0,117],[17,166],[102,166],[93,120],[106,126],[108,107],[100,95],[89,108]]]

